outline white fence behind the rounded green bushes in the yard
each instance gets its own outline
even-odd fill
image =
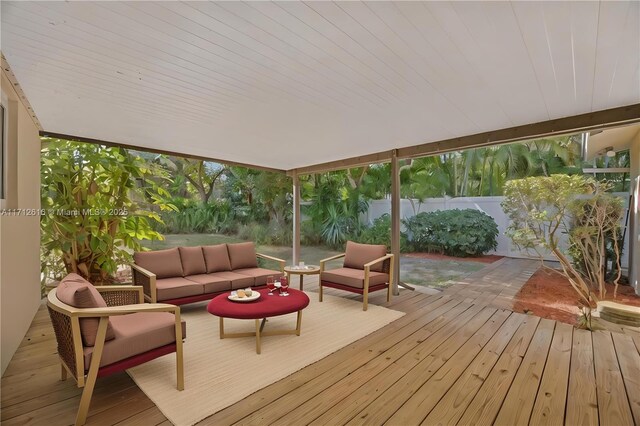
[[[629,194],[616,193],[616,195],[622,197],[625,200],[625,208],[629,202]],[[536,253],[527,253],[526,251],[519,250],[509,237],[504,233],[509,226],[509,218],[502,210],[500,203],[504,197],[457,197],[457,198],[429,198],[424,202],[419,200],[400,200],[400,217],[407,219],[422,212],[431,212],[435,210],[451,210],[451,209],[476,209],[483,211],[489,216],[493,217],[498,225],[498,247],[492,254],[498,254],[501,256],[510,257],[536,257]],[[372,200],[369,202],[369,210],[361,216],[361,220],[365,223],[371,224],[374,219],[382,216],[383,214],[391,214],[391,200]],[[626,216],[625,216],[626,217]],[[623,220],[625,219],[623,217]],[[624,225],[624,223],[623,223]],[[627,267],[629,262],[629,256],[627,247],[629,244],[629,233],[625,237],[624,252],[622,254],[622,266]],[[548,260],[555,260],[552,256],[546,257]]]

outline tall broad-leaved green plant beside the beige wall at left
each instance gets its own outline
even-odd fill
[[[94,284],[112,282],[140,240],[162,239],[149,205],[167,210],[161,174],[123,148],[43,138],[42,270],[44,279],[75,272]]]

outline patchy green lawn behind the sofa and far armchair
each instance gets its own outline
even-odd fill
[[[189,247],[222,243],[238,243],[237,237],[217,234],[173,234],[165,235],[164,241],[143,241],[151,250],[171,247]],[[292,263],[292,249],[285,246],[258,246],[257,251],[270,256],[285,259]],[[338,254],[338,251],[321,246],[300,248],[300,258],[309,265],[317,265],[321,259]],[[335,266],[339,264],[337,261]],[[400,279],[406,283],[434,288],[445,288],[487,266],[479,262],[419,259],[402,256],[400,258]]]

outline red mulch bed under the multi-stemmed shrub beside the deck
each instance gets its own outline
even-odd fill
[[[640,306],[640,296],[633,287],[619,285],[617,296],[613,298],[613,284],[607,284],[605,300],[627,305]],[[530,312],[542,318],[558,320],[576,325],[580,310],[580,299],[569,281],[558,272],[540,268],[529,278],[516,294],[513,310]]]

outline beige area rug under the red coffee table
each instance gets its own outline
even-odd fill
[[[334,296],[318,302],[316,293],[302,311],[300,336],[266,336],[262,354],[255,337],[220,340],[218,317],[206,302],[183,308],[185,389],[176,390],[175,354],[128,370],[142,391],[174,424],[192,425],[301,368],[318,361],[392,321],[403,312]],[[276,297],[276,296],[274,296]],[[265,330],[295,328],[296,314],[270,318]],[[225,320],[225,332],[254,331],[253,320]]]

